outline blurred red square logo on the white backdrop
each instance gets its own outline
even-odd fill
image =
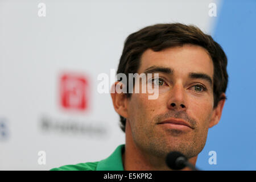
[[[60,81],[61,106],[85,110],[88,104],[88,81],[84,76],[64,74]]]

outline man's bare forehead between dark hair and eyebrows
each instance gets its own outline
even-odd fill
[[[213,78],[213,62],[206,49],[200,46],[185,44],[162,51],[147,49],[141,57],[138,73],[152,65],[170,67],[175,73],[200,72]]]

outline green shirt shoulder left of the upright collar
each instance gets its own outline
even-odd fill
[[[96,171],[98,162],[79,163],[52,168],[50,171]]]

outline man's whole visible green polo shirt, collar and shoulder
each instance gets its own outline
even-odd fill
[[[124,150],[125,144],[121,144],[104,160],[61,166],[52,168],[50,171],[123,171],[122,153]]]

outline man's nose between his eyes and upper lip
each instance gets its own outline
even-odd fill
[[[182,84],[176,84],[170,91],[170,98],[167,102],[168,109],[187,110],[187,100],[185,90]]]

